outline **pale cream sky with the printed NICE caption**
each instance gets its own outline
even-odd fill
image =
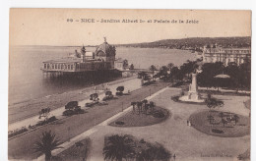
[[[67,21],[71,19],[72,23]],[[82,19],[94,20],[95,23],[82,23]],[[120,23],[100,23],[102,19]],[[123,20],[145,22],[122,23]],[[180,20],[184,23],[179,24]],[[194,24],[186,24],[187,20],[194,21]],[[171,23],[173,21],[176,23]],[[186,37],[250,36],[251,12],[11,9],[9,29],[10,45],[97,45],[103,42],[103,37],[110,44],[126,44]]]

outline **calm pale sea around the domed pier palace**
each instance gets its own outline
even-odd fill
[[[9,53],[9,104],[28,101],[38,97],[62,93],[92,84],[83,82],[52,81],[43,78],[40,70],[46,60],[66,57],[79,47],[12,46]],[[87,51],[94,51],[88,47]],[[186,60],[195,60],[196,55],[184,50],[159,48],[116,48],[116,58],[127,59],[135,68],[148,69],[173,63],[176,66]]]

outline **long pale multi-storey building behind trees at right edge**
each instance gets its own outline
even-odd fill
[[[202,57],[204,63],[223,62],[227,66],[228,63],[235,62],[239,66],[251,59],[251,49],[222,48],[216,44],[211,47],[204,46]]]

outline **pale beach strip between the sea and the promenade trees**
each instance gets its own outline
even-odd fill
[[[100,87],[102,84],[105,83],[107,83],[108,85],[112,85],[125,80],[133,80],[136,78],[136,76],[132,76],[129,78],[118,78],[117,80],[110,80],[98,83],[94,86]],[[69,101],[84,100],[88,98],[90,94],[92,94],[92,92],[95,90],[94,86],[89,85],[80,89],[65,91],[62,93],[52,94],[50,96],[47,95],[29,101],[24,101],[18,104],[8,105],[8,124],[14,124],[16,122],[36,116],[41,108],[50,107],[51,110],[54,110],[66,105],[66,103]]]

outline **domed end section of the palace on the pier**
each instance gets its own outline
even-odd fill
[[[115,61],[115,47],[109,45],[106,42],[106,38],[104,37],[104,42],[96,47],[96,59],[102,60],[103,62],[107,62],[110,64],[110,69],[114,69],[114,61]]]

